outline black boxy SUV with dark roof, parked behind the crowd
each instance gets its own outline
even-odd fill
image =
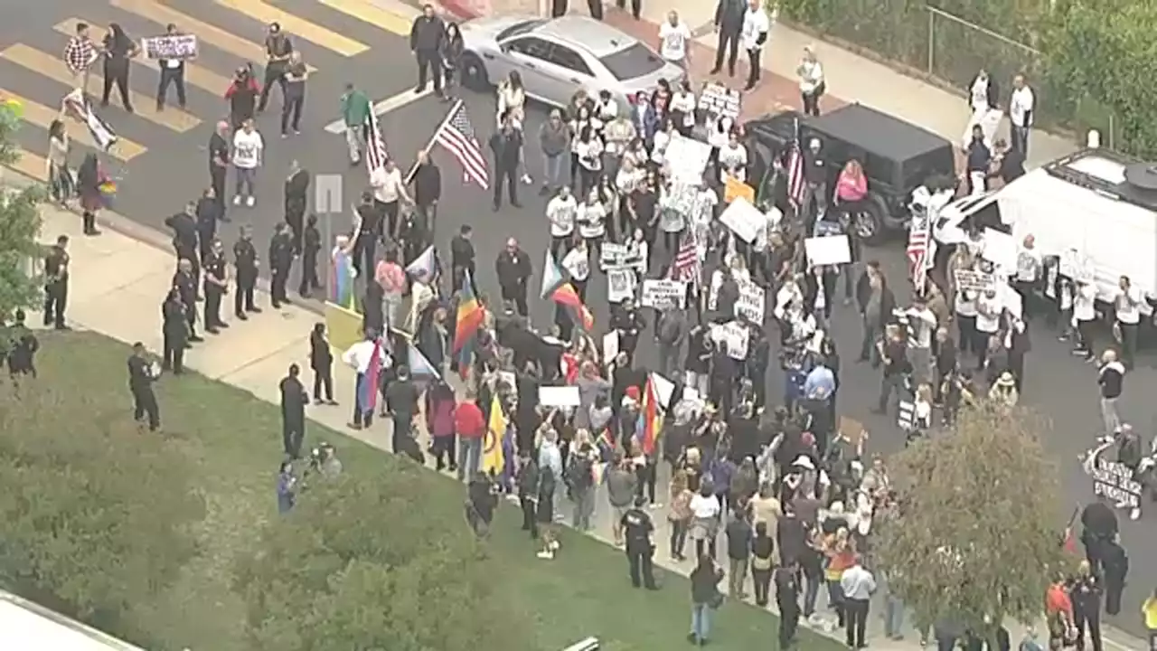
[[[787,196],[786,178],[773,174],[771,163],[782,159],[786,147],[795,140],[797,125],[804,146],[811,138],[823,142],[831,174],[830,192],[834,192],[837,176],[848,160],[856,159],[863,166],[868,197],[852,220],[869,244],[883,242],[891,232],[907,229],[913,190],[929,177],[955,175],[956,153],[950,141],[887,114],[862,104],[849,104],[820,117],[784,111],[745,124],[752,160],[750,177],[761,180],[757,188],[761,199],[779,197],[776,203],[782,203]]]

